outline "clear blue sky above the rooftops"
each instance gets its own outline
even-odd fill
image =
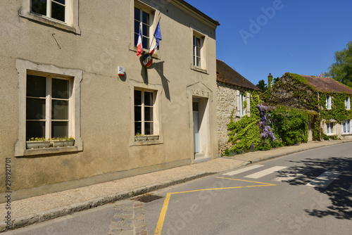
[[[185,1],[220,22],[217,58],[253,84],[270,72],[318,76],[352,41],[351,0]]]

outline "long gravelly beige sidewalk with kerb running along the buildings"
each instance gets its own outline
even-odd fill
[[[13,229],[25,227],[37,222],[52,220],[56,217],[71,214],[99,205],[113,203],[139,194],[162,189],[173,184],[180,184],[209,174],[225,172],[234,168],[257,163],[283,155],[306,151],[322,146],[342,144],[352,140],[311,141],[298,146],[287,146],[270,151],[256,151],[209,160],[203,163],[185,165],[159,172],[137,175],[113,182],[84,186],[58,193],[49,193],[11,203],[11,219]],[[6,215],[6,203],[0,204],[0,216]],[[0,232],[6,231],[6,223],[0,222]]]

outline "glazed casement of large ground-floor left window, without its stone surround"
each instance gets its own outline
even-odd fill
[[[26,140],[32,137],[70,137],[72,78],[28,74],[26,87]]]

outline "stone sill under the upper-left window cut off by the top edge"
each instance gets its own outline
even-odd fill
[[[46,18],[42,15],[37,15],[34,13],[22,11],[22,12],[20,12],[20,17],[27,18],[28,20],[34,20],[39,23],[43,23],[45,25],[50,25],[50,26],[53,26],[53,27],[56,27],[58,29],[65,30],[68,32],[73,32],[75,34],[81,34],[81,30],[80,30],[79,26],[72,27],[72,26],[66,25],[65,23],[60,23],[56,20]]]

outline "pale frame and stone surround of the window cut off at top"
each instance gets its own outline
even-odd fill
[[[22,0],[22,8],[19,11],[20,17],[34,20],[44,25],[53,26],[67,32],[81,34],[78,24],[78,0],[65,0],[65,22],[31,11],[31,3],[32,0]],[[49,8],[47,8],[47,12],[48,11]]]

